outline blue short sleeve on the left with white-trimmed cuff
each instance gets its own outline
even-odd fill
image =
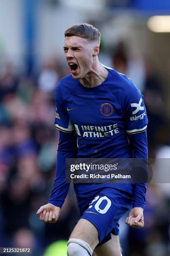
[[[65,133],[72,133],[75,128],[71,121],[69,120],[69,116],[67,110],[65,108],[64,100],[62,97],[60,82],[57,84],[55,89],[55,128],[59,131]]]

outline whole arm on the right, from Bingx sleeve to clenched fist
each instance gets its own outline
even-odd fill
[[[125,117],[125,128],[133,149],[133,158],[148,158],[148,141],[146,128],[148,124],[144,97],[133,82],[129,80],[124,101],[122,103]],[[145,207],[146,183],[133,185],[133,208],[126,220],[126,224],[140,228],[144,226],[143,208]]]

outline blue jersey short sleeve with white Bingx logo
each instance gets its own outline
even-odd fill
[[[133,83],[126,91],[124,108],[126,133],[131,135],[146,131],[148,118],[144,97]]]

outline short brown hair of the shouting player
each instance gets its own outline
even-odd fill
[[[100,45],[100,32],[94,26],[87,23],[79,23],[67,28],[64,33],[66,36],[80,36],[82,38],[86,38],[90,42],[97,41]]]

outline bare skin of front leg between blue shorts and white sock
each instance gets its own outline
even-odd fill
[[[73,229],[70,238],[78,238],[87,242],[92,250],[99,243],[97,228],[88,220],[80,219]]]

